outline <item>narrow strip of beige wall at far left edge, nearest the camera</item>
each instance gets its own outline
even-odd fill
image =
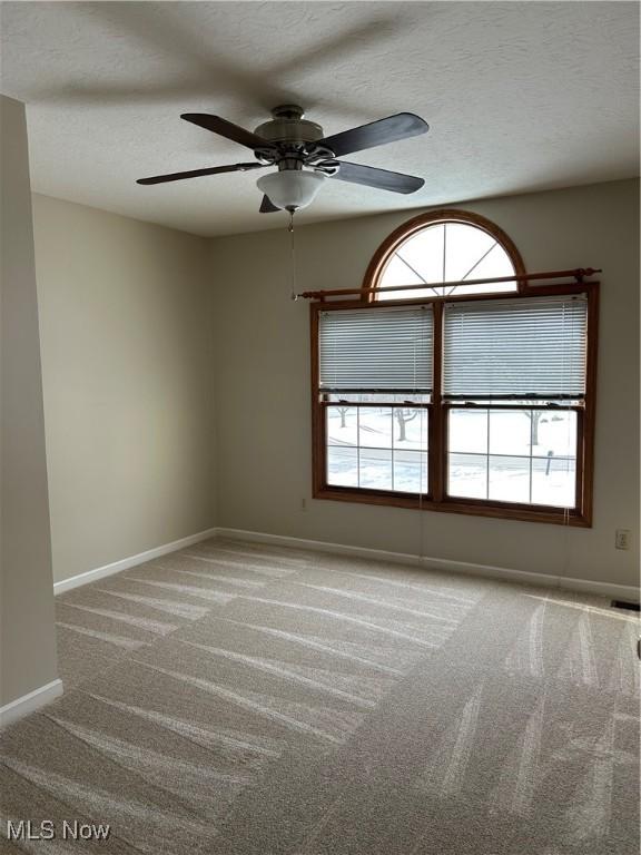
[[[0,707],[57,679],[24,107],[0,96]]]

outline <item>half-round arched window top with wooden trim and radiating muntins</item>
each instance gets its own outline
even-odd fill
[[[517,291],[516,281],[455,287],[443,283],[523,273],[521,254],[499,226],[477,214],[442,209],[415,217],[389,235],[367,268],[364,287],[376,292],[391,285],[425,285],[379,292],[379,301],[495,294]]]

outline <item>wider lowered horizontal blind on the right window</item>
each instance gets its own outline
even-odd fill
[[[584,295],[450,303],[444,318],[446,399],[585,395]]]

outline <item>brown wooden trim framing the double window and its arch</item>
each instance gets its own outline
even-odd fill
[[[593,479],[594,479],[594,417],[596,392],[596,343],[599,323],[599,283],[584,282],[576,284],[530,285],[520,283],[517,292],[511,294],[500,292],[495,294],[467,294],[447,296],[423,297],[415,299],[398,299],[376,302],[373,299],[375,287],[386,261],[404,239],[410,235],[437,222],[465,222],[480,225],[489,230],[495,239],[510,253],[517,274],[525,274],[525,267],[516,247],[510,238],[489,220],[477,215],[464,212],[442,209],[422,215],[396,229],[382,244],[372,259],[365,276],[364,288],[367,294],[359,299],[323,301],[310,303],[310,350],[312,350],[312,446],[313,446],[313,498],[329,501],[345,501],[352,503],[384,505],[392,508],[406,508],[443,513],[462,513],[475,517],[489,517],[494,519],[521,520],[527,522],[543,522],[552,524],[569,524],[573,527],[590,528],[592,525],[593,505]],[[411,230],[407,230],[411,229]],[[494,230],[492,230],[494,229]],[[512,255],[514,252],[514,255]],[[374,277],[374,278],[372,278]],[[582,407],[572,407],[578,411],[578,454],[576,454],[576,507],[570,512],[562,508],[548,505],[519,504],[513,502],[500,502],[494,500],[476,500],[448,497],[445,494],[445,466],[446,466],[446,420],[448,405],[442,401],[442,355],[443,355],[443,306],[457,299],[505,299],[506,297],[532,297],[552,295],[585,294],[588,297],[588,361],[586,361],[586,387],[585,402]],[[326,420],[325,404],[320,400],[318,391],[319,358],[318,358],[318,318],[322,312],[342,311],[363,307],[364,302],[371,308],[376,306],[391,307],[393,305],[432,304],[434,311],[434,393],[430,404],[428,422],[428,471],[431,492],[416,495],[403,494],[385,490],[369,490],[366,488],[335,487],[327,483],[326,479]],[[525,409],[525,407],[522,407]]]

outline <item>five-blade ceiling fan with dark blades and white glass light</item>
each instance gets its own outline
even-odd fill
[[[430,126],[418,116],[412,112],[398,112],[368,125],[324,137],[323,128],[305,119],[304,115],[303,109],[297,105],[286,104],[275,107],[272,110],[273,118],[252,132],[219,116],[185,112],[180,118],[250,148],[256,160],[193,169],[186,173],[156,175],[151,178],[140,178],[137,184],[164,184],[204,175],[244,173],[276,166],[278,171],[273,171],[257,181],[258,189],[264,193],[259,208],[262,214],[282,209],[293,213],[306,207],[314,200],[326,178],[403,194],[415,193],[425,184],[423,178],[412,175],[337,159],[354,151],[363,151],[397,139],[426,134]]]

